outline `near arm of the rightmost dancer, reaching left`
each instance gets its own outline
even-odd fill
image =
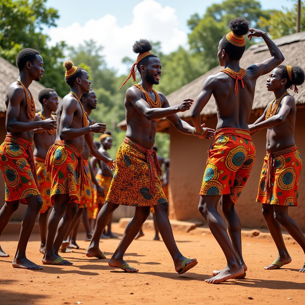
[[[282,105],[281,105],[280,110],[278,111],[278,114],[275,114],[274,116],[270,117],[267,120],[263,120],[259,123],[255,122],[253,125],[250,125],[250,127],[251,127],[250,132],[256,131],[256,130],[259,130],[262,128],[273,127],[278,124],[281,124],[282,122],[284,122],[284,120],[288,116],[290,109],[292,108],[294,103],[295,103],[295,101],[291,96],[289,96],[287,98],[283,98],[282,102],[281,102]]]

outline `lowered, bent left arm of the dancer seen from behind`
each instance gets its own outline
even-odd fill
[[[201,111],[204,106],[206,106],[207,102],[210,100],[213,93],[213,78],[212,75],[209,76],[203,84],[203,88],[198,95],[195,104],[191,111],[191,120],[196,128],[197,133],[202,133],[203,128],[201,126]]]

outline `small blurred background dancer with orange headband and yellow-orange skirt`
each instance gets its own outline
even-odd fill
[[[105,131],[105,133],[99,137],[99,141],[100,141],[99,152],[105,155],[106,157],[109,157],[107,150],[111,149],[112,147],[111,133]],[[113,177],[113,171],[109,168],[109,166],[105,164],[105,162],[100,161],[95,157],[91,158],[90,164],[92,168],[95,168],[98,165],[97,167],[98,171],[95,175],[95,178],[99,186],[103,188],[102,194],[97,192],[97,188],[94,193],[94,202],[97,207],[94,210],[93,218],[96,219],[97,215],[99,214],[99,211],[102,209],[102,206],[106,202],[106,196]],[[110,217],[109,222],[107,224],[107,232],[105,229],[104,232],[102,233],[102,238],[117,238],[117,236],[113,235],[111,231],[111,223],[112,223],[112,216]]]

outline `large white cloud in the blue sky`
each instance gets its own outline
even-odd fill
[[[121,60],[125,56],[136,59],[132,52],[134,41],[147,38],[160,41],[162,51],[169,53],[179,45],[185,45],[187,34],[178,29],[179,20],[175,9],[164,6],[154,0],[144,0],[135,5],[131,24],[120,27],[113,15],[102,16],[98,20],[89,20],[81,26],[74,22],[68,27],[52,28],[49,31],[51,44],[65,41],[68,45],[77,46],[84,40],[93,39],[104,47],[109,67],[114,67],[119,73],[126,73],[126,66]]]

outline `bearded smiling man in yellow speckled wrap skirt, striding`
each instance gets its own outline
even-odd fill
[[[150,42],[146,39],[136,41],[133,45],[133,51],[140,54],[131,68],[129,77],[133,76],[135,81],[136,67],[141,74],[141,80],[139,84],[126,91],[124,101],[126,138],[118,149],[117,166],[106,197],[106,204],[99,212],[86,255],[88,257],[101,255],[99,238],[113,211],[120,204],[135,206],[135,215],[127,224],[124,235],[108,264],[126,272],[138,272],[138,269],[124,261],[123,256],[148,217],[150,206],[153,205],[158,228],[174,260],[175,270],[182,274],[194,267],[197,260],[184,257],[175,243],[167,215],[167,199],[158,178],[161,169],[152,146],[155,142],[156,122],[163,117],[166,117],[178,131],[192,135],[193,127],[182,121],[176,113],[190,109],[193,100],[185,99],[179,105],[170,106],[166,97],[152,88],[154,84],[159,84],[162,72],[160,59],[149,52],[151,48]],[[205,128],[206,138],[211,138],[213,134],[213,129]]]

